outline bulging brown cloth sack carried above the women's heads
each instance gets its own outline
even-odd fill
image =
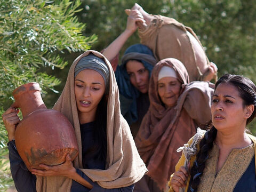
[[[139,30],[141,43],[147,45],[159,61],[176,58],[185,65],[190,81],[202,81],[209,73],[209,60],[194,31],[173,18],[153,15],[149,26]]]

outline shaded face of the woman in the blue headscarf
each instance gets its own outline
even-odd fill
[[[132,85],[141,93],[148,92],[149,71],[139,61],[130,60],[126,63],[127,74]]]

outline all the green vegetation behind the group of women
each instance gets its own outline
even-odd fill
[[[256,1],[242,0],[8,0],[0,1],[0,114],[15,87],[36,81],[48,108],[57,101],[69,66],[87,49],[101,51],[122,33],[134,3],[193,28],[218,75],[240,74],[256,82]],[[125,49],[139,43],[135,33]],[[13,185],[7,137],[0,119],[0,191]],[[255,122],[249,128],[256,133]]]

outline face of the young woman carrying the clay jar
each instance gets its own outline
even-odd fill
[[[84,69],[75,77],[74,89],[78,114],[95,114],[105,93],[103,77],[95,70]]]

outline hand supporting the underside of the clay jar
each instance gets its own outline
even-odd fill
[[[71,162],[70,156],[66,155],[66,161],[60,165],[47,166],[44,164],[39,165],[43,170],[32,169],[31,173],[37,176],[53,176],[62,175],[70,179],[76,173],[76,169]]]

